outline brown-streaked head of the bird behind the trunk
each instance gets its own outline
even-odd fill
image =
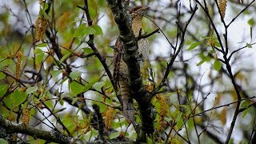
[[[143,16],[146,14],[147,10],[149,10],[150,7],[146,6],[134,6],[129,10],[129,13],[131,14],[132,18],[140,18],[142,19]]]

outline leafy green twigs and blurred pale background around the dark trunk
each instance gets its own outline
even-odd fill
[[[150,6],[143,18],[146,32],[161,30],[148,38],[148,70],[152,77],[144,84],[149,90],[161,82],[175,54],[171,45],[185,42],[166,79],[164,93],[152,101],[157,111],[155,138],[148,142],[225,142],[238,101],[240,114],[230,143],[254,142],[256,4],[251,0],[229,0],[222,19],[217,1],[199,2],[202,6],[206,2],[212,21],[198,5],[182,40],[178,26],[186,26],[197,1],[130,1],[130,6]],[[57,128],[74,138],[94,141],[98,131],[91,112],[96,103],[105,125],[110,125],[106,129],[108,138],[134,140],[137,135],[133,126],[116,108],[120,103],[110,78],[86,43],[88,35],[94,34],[98,53],[106,58],[112,71],[111,46],[118,38],[118,27],[106,1],[89,1],[93,26],[87,25],[84,10],[77,7],[83,5],[82,1],[68,0],[0,2],[0,114],[16,124],[48,131]],[[46,30],[39,40],[36,27],[43,30],[43,20],[37,26],[38,18],[46,19]],[[230,25],[226,27],[223,22]],[[219,51],[220,43],[228,49],[226,53]],[[226,68],[225,54],[230,57],[234,78]],[[18,135],[18,140],[44,142],[26,134]]]

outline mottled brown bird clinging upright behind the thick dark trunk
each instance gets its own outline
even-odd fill
[[[146,14],[147,10],[150,7],[146,6],[134,6],[129,10],[129,14],[131,16],[131,26],[134,32],[135,38],[137,38],[140,34],[144,34],[142,30],[142,18]],[[132,98],[132,92],[128,85],[128,68],[126,62],[123,61],[123,44],[120,38],[115,42],[115,50],[114,50],[114,70],[113,70],[113,78],[116,86],[116,90],[118,90],[118,94],[121,94],[123,101],[123,115],[128,122],[134,123],[134,100]],[[146,65],[146,62],[149,62],[149,42],[146,38],[142,38],[138,40],[138,53],[141,56],[140,68],[143,69],[143,66]]]

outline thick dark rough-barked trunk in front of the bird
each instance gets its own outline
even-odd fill
[[[154,109],[150,94],[146,92],[142,83],[137,38],[135,38],[132,30],[130,14],[126,12],[127,8],[122,5],[122,1],[106,0],[106,2],[114,14],[114,21],[118,25],[120,40],[124,45],[124,61],[128,66],[129,86],[134,99],[138,102],[142,122],[138,142],[146,142],[146,134],[150,135],[154,132]]]

